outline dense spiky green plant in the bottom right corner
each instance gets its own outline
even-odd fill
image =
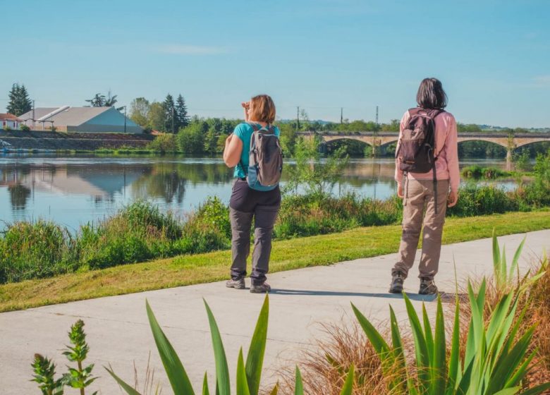
[[[374,326],[352,304],[355,316],[367,338],[381,359],[384,374],[391,377],[391,393],[412,395],[508,395],[541,394],[550,389],[550,383],[523,390],[522,382],[530,369],[534,357],[529,345],[534,327],[520,336],[518,330],[525,310],[517,319],[518,295],[505,294],[491,312],[487,325],[484,322],[486,282],[482,281],[477,296],[468,284],[468,298],[472,316],[470,318],[465,356],[460,356],[459,302],[456,299],[451,350],[447,360],[444,313],[441,298],[437,300],[434,332],[422,303],[422,321],[404,293],[405,305],[415,342],[416,366],[408,365],[403,353],[401,333],[393,309],[391,315],[391,345]],[[397,374],[396,374],[397,372]],[[411,374],[415,372],[416,374]]]

